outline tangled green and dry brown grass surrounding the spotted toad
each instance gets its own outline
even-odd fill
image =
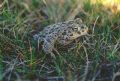
[[[104,81],[104,64],[110,71],[115,66],[111,73],[105,70],[106,75],[114,75],[113,79],[120,76],[116,65],[120,59],[120,13],[113,13],[101,3],[91,4],[90,0],[82,2],[82,6],[80,3],[4,0],[0,8],[0,81],[44,81],[47,76],[64,76],[66,81]],[[60,52],[56,59],[39,50],[29,36],[32,30],[41,31],[49,24],[74,17],[80,17],[89,27],[90,37],[81,38],[69,52],[56,46]],[[109,63],[113,65],[108,67]]]

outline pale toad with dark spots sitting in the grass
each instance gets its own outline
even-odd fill
[[[49,25],[39,34],[33,35],[34,40],[43,43],[43,50],[47,54],[56,51],[54,44],[68,45],[80,36],[86,35],[88,27],[80,18]]]

